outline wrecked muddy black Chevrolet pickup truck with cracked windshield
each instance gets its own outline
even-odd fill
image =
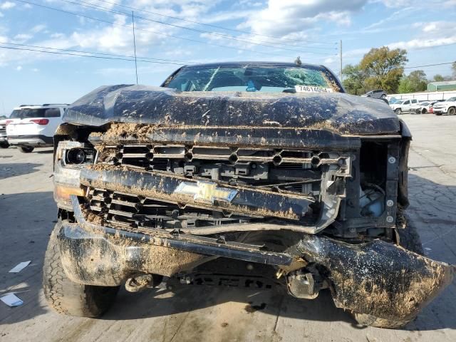
[[[398,328],[452,281],[404,216],[408,128],[323,66],[184,66],[98,88],[63,120],[43,269],[61,313],[177,281],[328,289],[361,325]]]

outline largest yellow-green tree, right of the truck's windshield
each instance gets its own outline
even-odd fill
[[[366,88],[396,93],[407,61],[407,51],[400,48],[372,48],[359,64],[361,70],[368,75],[364,81]]]

